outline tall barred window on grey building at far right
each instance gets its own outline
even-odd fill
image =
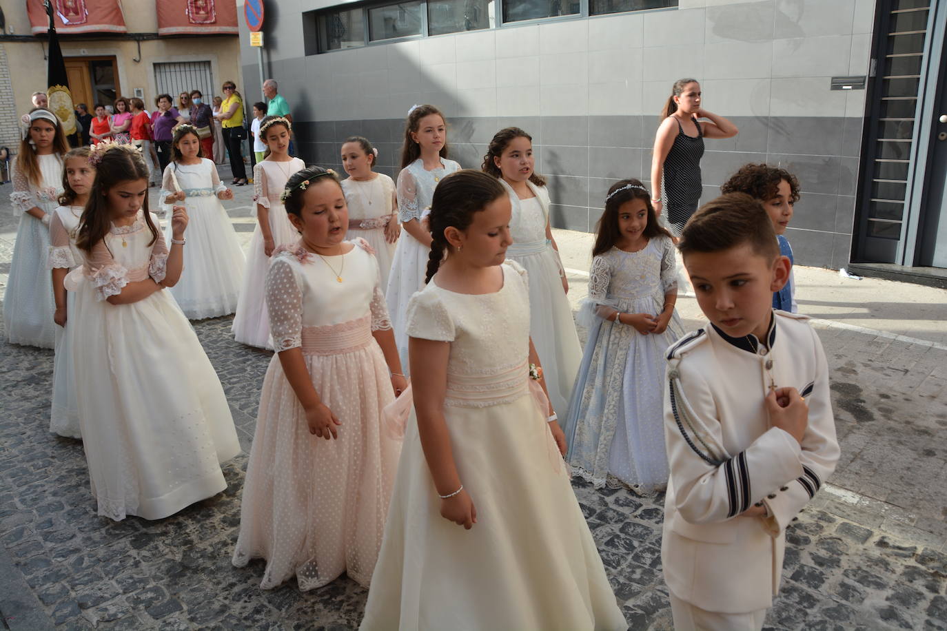
[[[869,247],[874,257],[892,257],[902,235],[930,4],[930,0],[894,0],[887,15],[887,38],[878,61],[880,102],[871,131],[866,237],[889,244]]]

